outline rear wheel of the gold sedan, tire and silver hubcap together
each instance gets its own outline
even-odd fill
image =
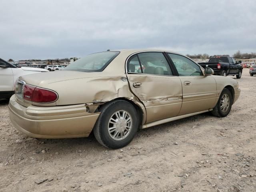
[[[103,106],[100,111],[93,129],[97,141],[111,149],[128,145],[139,126],[134,106],[127,101],[116,100]]]

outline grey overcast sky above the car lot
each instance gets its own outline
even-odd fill
[[[255,0],[0,0],[0,58],[256,52]]]

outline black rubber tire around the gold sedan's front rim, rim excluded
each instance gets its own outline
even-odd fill
[[[222,100],[222,96],[224,94],[227,94],[229,96],[229,101],[230,101],[230,104],[229,104],[229,107],[228,107],[228,110],[223,112],[221,110],[221,100]],[[213,108],[213,110],[211,111],[211,113],[216,116],[216,117],[226,117],[230,110],[231,110],[231,107],[232,107],[232,104],[233,104],[233,99],[232,99],[232,94],[230,92],[230,90],[228,90],[227,88],[224,88],[220,94],[220,98],[216,104],[216,106]]]

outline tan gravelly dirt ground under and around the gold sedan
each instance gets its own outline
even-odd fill
[[[200,114],[141,130],[122,150],[93,136],[29,138],[2,100],[0,191],[255,192],[256,76],[244,69],[238,82],[241,96],[226,118]]]

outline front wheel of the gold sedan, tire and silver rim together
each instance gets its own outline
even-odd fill
[[[232,103],[233,100],[230,90],[224,88],[220,94],[218,103],[211,112],[216,117],[226,117],[231,110]]]

